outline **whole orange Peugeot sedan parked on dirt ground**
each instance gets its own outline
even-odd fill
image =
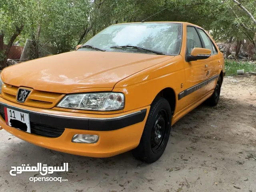
[[[109,26],[76,51],[5,68],[0,126],[56,151],[109,157],[163,154],[171,126],[218,103],[223,54],[185,22]]]

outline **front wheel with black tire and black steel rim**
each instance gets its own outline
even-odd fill
[[[148,118],[140,139],[140,144],[132,150],[132,155],[143,162],[158,160],[168,143],[172,111],[168,101],[158,97],[152,102]]]

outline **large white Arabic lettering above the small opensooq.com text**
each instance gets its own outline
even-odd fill
[[[21,174],[22,172],[40,172],[42,176],[46,174],[52,174],[53,172],[68,172],[68,163],[64,163],[63,166],[47,166],[47,164],[37,163],[37,166],[29,166],[29,164],[22,164],[21,166],[11,166],[10,170],[11,176],[16,176],[16,174]],[[16,173],[13,173],[16,172]]]

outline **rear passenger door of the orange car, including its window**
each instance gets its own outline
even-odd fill
[[[213,44],[212,40],[206,34],[206,32],[200,28],[198,28],[198,32],[200,34],[200,38],[202,39],[203,48],[210,49],[212,51],[211,56],[208,58],[209,62],[207,63],[207,80],[208,84],[206,86],[207,92],[210,92],[214,90],[216,85],[216,80],[218,79],[219,75],[219,68],[222,66],[219,66],[220,59],[218,55],[218,51],[216,49],[216,46]]]

